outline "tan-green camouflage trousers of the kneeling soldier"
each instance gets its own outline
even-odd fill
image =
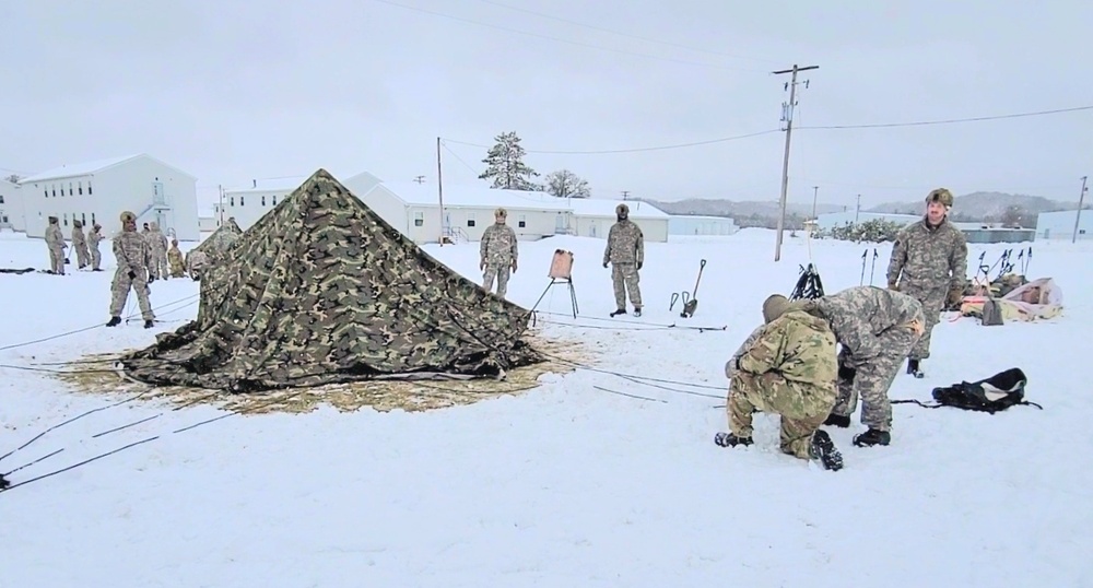
[[[753,411],[778,414],[781,416],[781,451],[809,459],[812,434],[827,419],[834,404],[833,386],[791,381],[774,372],[755,375],[737,371],[729,384],[729,430],[738,437],[751,437]]]

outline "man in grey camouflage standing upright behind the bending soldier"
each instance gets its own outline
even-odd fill
[[[889,289],[897,290],[922,305],[926,331],[910,350],[907,373],[921,377],[922,360],[930,356],[930,336],[941,319],[941,309],[959,303],[967,277],[967,240],[949,222],[953,195],[944,188],[926,197],[926,215],[896,235],[889,261]]]

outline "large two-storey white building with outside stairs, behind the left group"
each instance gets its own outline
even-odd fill
[[[121,228],[121,211],[138,226],[157,222],[178,240],[199,240],[197,178],[146,154],[64,165],[19,180],[26,236],[43,237],[49,216],[66,236],[72,221],[97,222],[106,234]]]

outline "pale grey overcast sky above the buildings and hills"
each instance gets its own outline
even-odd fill
[[[319,167],[435,181],[437,137],[445,181],[479,181],[485,149],[462,143],[509,130],[593,197],[773,200],[783,132],[534,152],[777,131],[789,77],[771,72],[795,62],[820,69],[791,200],[1077,200],[1093,174],[1093,110],[807,129],[1093,105],[1093,3],[1071,0],[4,0],[0,17],[0,167],[146,152],[198,176],[202,202]]]

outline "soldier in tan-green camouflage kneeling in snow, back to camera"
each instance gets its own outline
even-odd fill
[[[843,456],[820,431],[837,396],[834,333],[827,321],[792,308],[780,294],[763,303],[763,320],[725,365],[730,432],[718,433],[714,443],[751,445],[752,413],[779,414],[783,452],[841,469]]]

